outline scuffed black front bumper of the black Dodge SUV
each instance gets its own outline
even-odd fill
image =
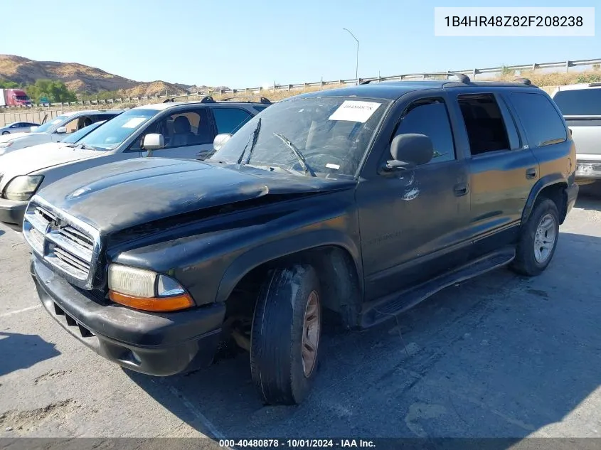
[[[211,364],[225,306],[151,314],[95,298],[36,257],[31,275],[50,316],[99,355],[136,372],[167,376]]]

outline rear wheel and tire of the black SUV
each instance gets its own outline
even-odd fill
[[[537,234],[538,233],[538,234]],[[559,237],[559,213],[553,200],[543,198],[536,203],[521,232],[516,258],[511,269],[527,277],[535,277],[547,268]]]

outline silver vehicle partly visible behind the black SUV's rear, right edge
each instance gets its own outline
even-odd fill
[[[560,86],[551,97],[576,144],[576,178],[601,179],[601,82]]]

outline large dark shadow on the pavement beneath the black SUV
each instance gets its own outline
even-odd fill
[[[128,375],[213,439],[523,438],[557,426],[601,383],[600,267],[600,238],[562,232],[539,277],[499,269],[398,322],[326,331],[314,389],[297,407],[261,404],[245,353],[187,376]],[[575,423],[546,432],[594,435],[595,414]]]

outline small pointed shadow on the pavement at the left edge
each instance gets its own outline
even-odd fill
[[[58,355],[55,345],[40,336],[0,331],[0,376]]]

